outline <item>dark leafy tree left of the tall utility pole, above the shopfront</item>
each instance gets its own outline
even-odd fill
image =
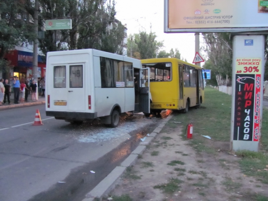
[[[33,24],[25,13],[22,0],[2,0],[0,2],[0,71],[9,79],[10,67],[4,60],[8,50],[34,40]]]

